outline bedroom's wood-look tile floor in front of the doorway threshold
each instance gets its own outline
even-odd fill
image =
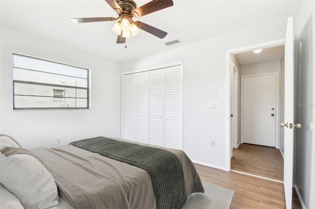
[[[234,191],[230,209],[285,209],[284,184],[194,163],[201,181]],[[292,189],[292,209],[300,209]]]

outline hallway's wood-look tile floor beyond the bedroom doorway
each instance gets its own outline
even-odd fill
[[[284,181],[284,159],[273,147],[240,144],[233,149],[231,169]]]

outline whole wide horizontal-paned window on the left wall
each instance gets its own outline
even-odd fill
[[[13,53],[13,109],[88,109],[89,71]]]

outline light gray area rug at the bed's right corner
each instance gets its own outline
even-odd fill
[[[205,193],[193,193],[182,209],[228,209],[234,191],[202,182]]]

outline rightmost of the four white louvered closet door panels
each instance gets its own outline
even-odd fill
[[[164,144],[183,149],[183,71],[175,66],[164,70]]]

